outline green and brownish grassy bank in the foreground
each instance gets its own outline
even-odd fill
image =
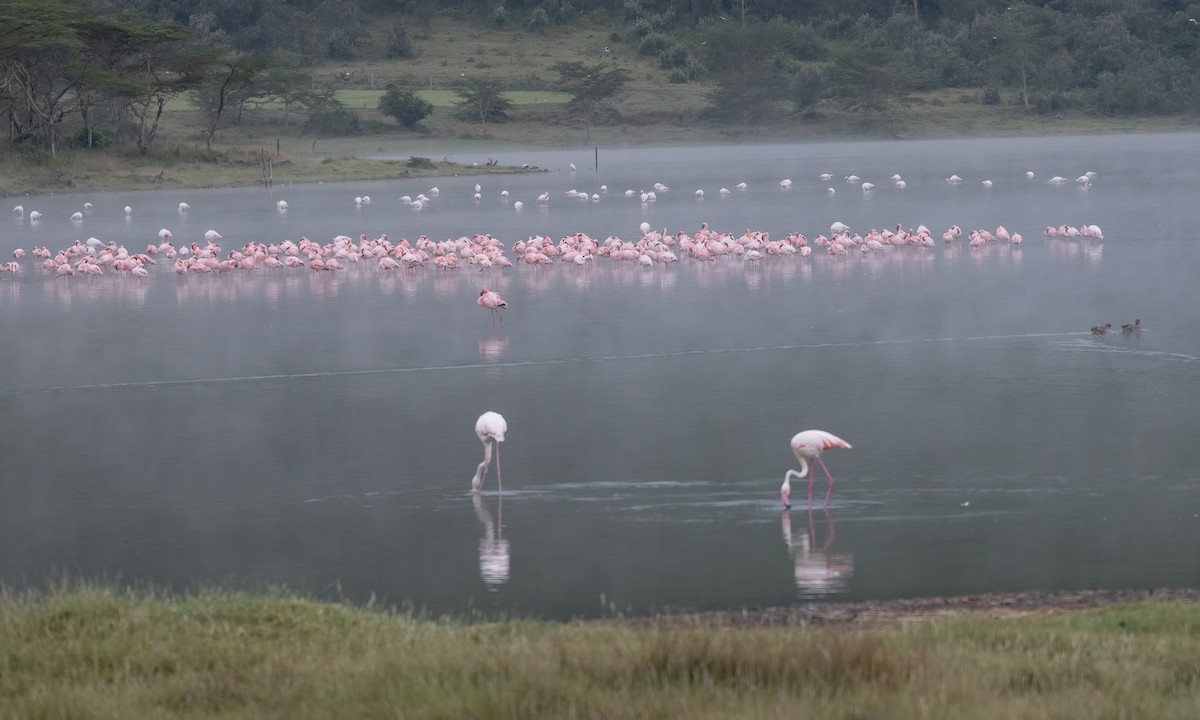
[[[284,595],[0,598],[5,718],[1195,718],[1200,604],[892,629],[420,619]]]

